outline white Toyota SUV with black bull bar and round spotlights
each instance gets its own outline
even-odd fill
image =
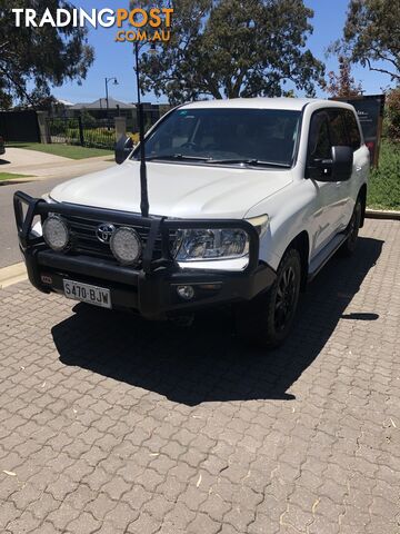
[[[239,335],[280,344],[300,289],[339,247],[354,250],[363,224],[369,151],[354,109],[291,98],[188,103],[159,120],[144,148],[149,216],[143,159],[129,141],[120,166],[43,199],[16,194],[31,283],[152,319],[230,304]]]

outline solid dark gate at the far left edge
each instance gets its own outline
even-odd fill
[[[6,142],[40,142],[36,111],[0,111],[0,135]]]

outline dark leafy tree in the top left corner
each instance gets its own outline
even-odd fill
[[[84,28],[17,28],[11,11],[33,8],[40,19],[47,8],[54,16],[59,7],[73,9],[61,0],[0,0],[0,107],[7,109],[12,99],[36,107],[51,97],[51,85],[84,79],[93,61]]]

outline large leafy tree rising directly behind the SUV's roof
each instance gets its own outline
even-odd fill
[[[143,91],[179,103],[281,96],[289,80],[311,96],[322,82],[323,65],[304,48],[313,12],[302,0],[176,0],[173,8],[171,40],[141,55]]]

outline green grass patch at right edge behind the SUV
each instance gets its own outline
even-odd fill
[[[379,168],[371,171],[368,189],[369,208],[400,210],[400,144],[382,141]]]

